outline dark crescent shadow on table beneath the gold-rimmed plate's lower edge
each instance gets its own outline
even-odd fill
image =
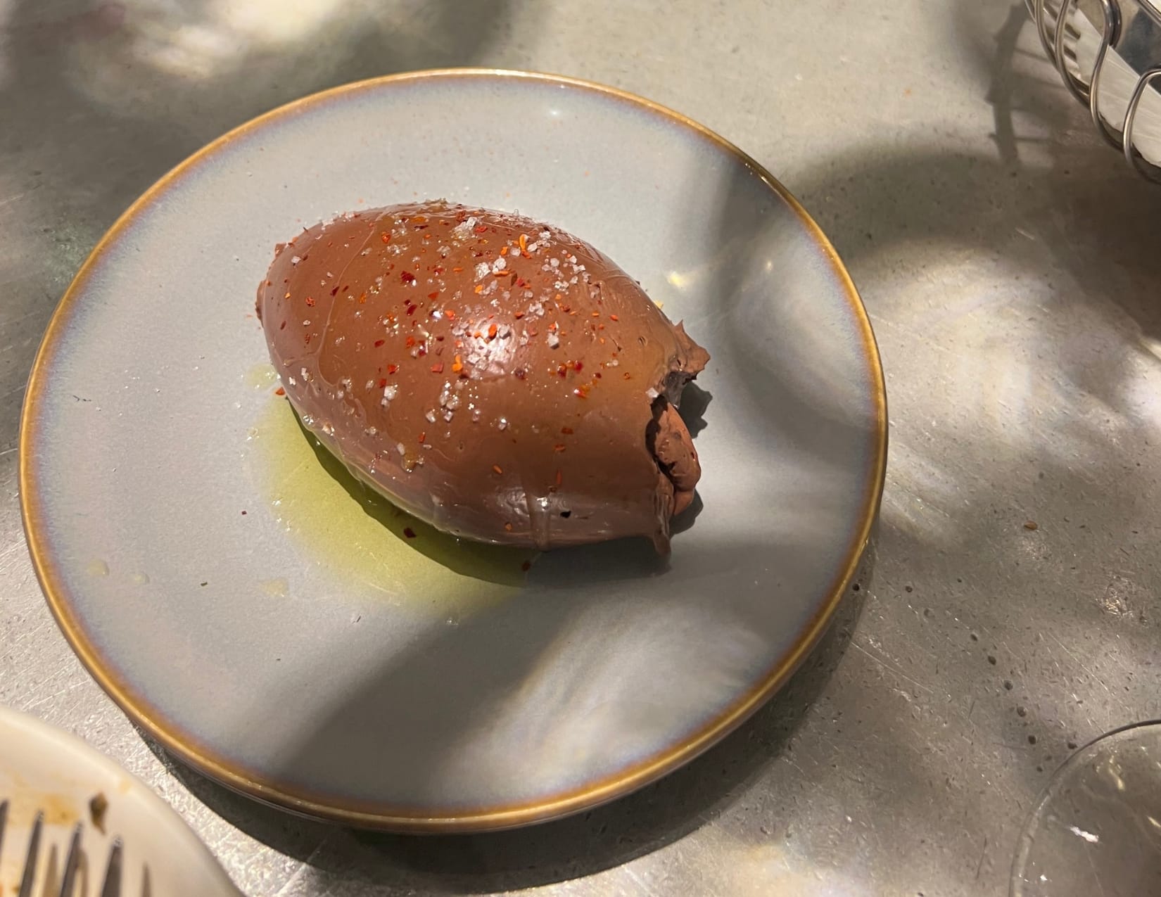
[[[264,806],[174,761],[167,768],[211,810],[264,844],[347,883],[476,892],[532,888],[592,875],[650,853],[713,822],[785,752],[858,623],[873,581],[867,548],[851,591],[787,686],[721,743],[641,790],[564,819],[485,834],[356,832]]]

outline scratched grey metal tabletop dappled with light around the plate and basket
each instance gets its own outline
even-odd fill
[[[697,762],[526,831],[360,834],[174,768],[81,670],[17,422],[62,291],[167,168],[301,94],[469,64],[672,106],[805,202],[879,337],[887,490],[823,645]],[[1055,766],[1161,716],[1159,222],[1023,0],[0,0],[0,702],[152,783],[253,897],[1004,891]]]

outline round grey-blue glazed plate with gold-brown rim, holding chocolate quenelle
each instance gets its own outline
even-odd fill
[[[275,395],[275,241],[434,197],[572,231],[712,353],[701,509],[668,562],[456,544]],[[49,327],[21,499],[62,629],[173,753],[300,812],[464,831],[611,800],[742,722],[825,627],[885,462],[866,313],[770,174],[611,88],[461,70],[291,103],[145,194]]]

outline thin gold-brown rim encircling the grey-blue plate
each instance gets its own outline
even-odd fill
[[[615,775],[607,776],[600,781],[576,788],[569,791],[554,795],[549,798],[538,800],[531,803],[479,808],[468,812],[459,812],[448,816],[416,815],[404,811],[382,809],[360,809],[356,806],[336,806],[333,802],[315,795],[304,794],[301,790],[280,783],[274,780],[255,777],[245,769],[231,765],[219,757],[199,745],[196,739],[188,732],[166,719],[157,708],[150,707],[140,696],[134,694],[128,683],[120,681],[109,672],[109,664],[96,651],[89,642],[81,627],[78,625],[70,606],[68,596],[62,587],[57,571],[53,569],[48,551],[38,533],[43,512],[41,507],[39,491],[35,482],[33,465],[30,463],[31,446],[35,442],[35,422],[33,408],[37,403],[41,392],[46,385],[45,369],[52,354],[58,349],[60,337],[64,332],[68,313],[80,296],[94,265],[101,254],[113,244],[113,241],[124,231],[134,218],[139,215],[151,202],[164,194],[170,185],[186,174],[201,160],[228,147],[233,140],[247,135],[262,125],[277,121],[287,115],[304,111],[311,107],[322,104],[329,100],[339,99],[346,95],[367,89],[382,87],[383,85],[412,82],[424,79],[437,78],[504,78],[504,79],[528,79],[542,82],[556,84],[568,87],[577,87],[633,103],[647,111],[659,115],[683,125],[698,135],[713,142],[719,149],[740,160],[747,168],[753,172],[762,181],[773,190],[799,217],[819,247],[830,261],[834,273],[837,275],[846,301],[859,325],[863,339],[864,355],[870,367],[870,378],[872,382],[872,402],[875,413],[877,440],[871,458],[870,487],[865,495],[861,509],[861,518],[854,538],[846,550],[846,559],[842,570],[831,585],[827,599],[821,603],[814,617],[807,624],[805,631],[799,636],[794,646],[784,656],[763,679],[749,693],[742,696],[729,710],[702,726],[692,736],[684,739],[669,750],[649,758],[648,760],[627,767]],[[707,750],[724,736],[741,725],[755,710],[758,709],[771,695],[798,668],[814,648],[815,643],[827,629],[827,624],[834,616],[843,594],[846,591],[851,578],[858,566],[863,550],[871,536],[871,529],[878,514],[879,502],[882,495],[884,478],[887,466],[887,395],[882,376],[882,364],[879,357],[879,349],[874,334],[871,330],[871,321],[867,318],[866,309],[859,298],[850,275],[842,260],[835,252],[834,246],[823,234],[822,229],[809,216],[806,209],[795,200],[791,193],[783,187],[778,180],[762,165],[755,161],[737,146],[723,137],[714,133],[705,125],[694,122],[686,116],[673,111],[664,106],[646,100],[626,91],[615,87],[585,81],[565,75],[545,74],[539,72],[520,72],[503,68],[435,68],[420,72],[403,72],[399,74],[372,78],[365,81],[356,81],[339,87],[333,87],[310,96],[295,100],[286,106],[281,106],[264,115],[252,118],[233,130],[218,137],[212,143],[199,150],[196,153],[176,165],[165,174],[157,183],[150,187],[132,205],[121,215],[114,225],[106,232],[96,244],[92,253],[81,266],[68,289],[60,299],[59,305],[49,321],[44,340],[37,352],[29,375],[28,390],[24,396],[24,406],[21,415],[21,429],[19,442],[20,457],[20,505],[24,521],[24,534],[28,540],[29,552],[33,558],[33,566],[36,570],[37,579],[48,599],[52,615],[56,617],[65,638],[72,645],[73,651],[81,663],[106,690],[106,693],[121,707],[122,710],[135,723],[140,725],[150,737],[165,746],[167,751],[192,766],[194,769],[209,775],[223,784],[254,797],[265,803],[274,804],[293,812],[313,816],[331,822],[342,823],[363,829],[382,829],[397,832],[478,832],[499,829],[512,829],[531,823],[555,819],[579,810],[591,809],[601,803],[606,803],[616,797],[626,795],[652,782],[677,767],[688,762],[694,757]]]

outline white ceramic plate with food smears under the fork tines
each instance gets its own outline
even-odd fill
[[[89,801],[107,806],[94,824]],[[181,818],[138,779],[78,738],[0,707],[0,802],[8,802],[0,892],[16,894],[36,815],[43,813],[33,894],[57,894],[77,823],[82,824],[73,897],[101,889],[122,841],[121,894],[238,897],[230,878]]]

